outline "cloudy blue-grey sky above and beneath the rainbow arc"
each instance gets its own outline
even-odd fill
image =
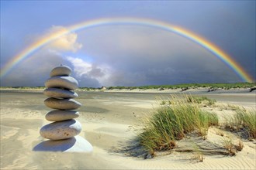
[[[1,71],[34,42],[95,19],[151,19],[218,46],[256,79],[255,1],[3,1]],[[161,28],[99,25],[71,31],[29,53],[1,86],[44,86],[50,70],[70,66],[79,87],[244,82],[199,43]]]

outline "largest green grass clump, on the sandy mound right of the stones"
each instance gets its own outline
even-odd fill
[[[190,102],[188,98],[189,96],[172,96],[171,105],[161,105],[144,119],[144,128],[139,134],[139,140],[140,145],[151,155],[154,155],[154,151],[175,148],[175,141],[192,131],[198,132],[206,139],[209,126],[218,124],[216,114],[201,110],[193,98]]]

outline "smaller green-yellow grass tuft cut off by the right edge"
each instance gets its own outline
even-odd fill
[[[256,138],[256,110],[236,107],[235,114],[231,117],[226,117],[226,121],[226,126],[230,130],[239,131],[240,128],[244,128],[249,138]]]

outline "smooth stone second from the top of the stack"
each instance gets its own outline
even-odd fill
[[[75,90],[78,88],[78,81],[72,76],[53,76],[48,79],[44,85],[48,88],[64,88]]]

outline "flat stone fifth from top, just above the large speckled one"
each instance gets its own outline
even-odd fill
[[[47,121],[66,121],[79,117],[79,112],[74,110],[52,110],[45,115]]]

